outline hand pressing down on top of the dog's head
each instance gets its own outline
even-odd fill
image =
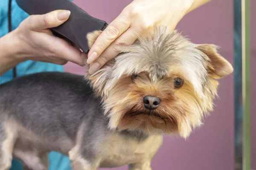
[[[111,22],[92,45],[87,63],[89,74],[99,70],[131,45],[145,31],[166,25],[170,30],[188,13],[194,0],[134,0]]]

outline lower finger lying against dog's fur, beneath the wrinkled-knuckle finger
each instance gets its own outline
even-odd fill
[[[98,71],[106,62],[116,57],[125,46],[132,45],[137,39],[137,32],[129,28],[121,36],[119,36],[111,45],[106,48],[106,50],[90,64],[88,73],[93,74]]]

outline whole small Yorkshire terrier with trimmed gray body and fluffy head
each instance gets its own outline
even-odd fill
[[[101,31],[87,35],[91,47]],[[43,72],[0,86],[0,170],[20,159],[69,156],[74,170],[151,170],[163,134],[186,139],[213,110],[218,80],[233,67],[218,46],[159,26],[85,76]]]

